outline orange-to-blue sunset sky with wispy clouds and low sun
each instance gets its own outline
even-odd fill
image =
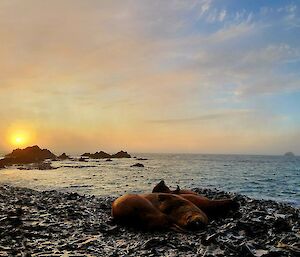
[[[300,154],[300,2],[1,0],[0,149]]]

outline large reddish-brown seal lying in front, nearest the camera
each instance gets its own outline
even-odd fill
[[[112,204],[113,218],[140,229],[199,230],[206,214],[191,201],[168,193],[127,194]]]

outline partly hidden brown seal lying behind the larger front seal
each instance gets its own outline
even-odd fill
[[[226,215],[231,210],[239,208],[239,204],[235,199],[218,199],[211,200],[205,196],[201,196],[191,190],[182,190],[177,186],[176,190],[171,191],[170,188],[162,180],[152,190],[152,192],[168,192],[170,194],[180,195],[182,198],[192,202],[206,215],[216,217]]]

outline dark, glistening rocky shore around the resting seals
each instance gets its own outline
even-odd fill
[[[299,209],[239,194],[241,207],[204,230],[143,232],[114,223],[112,197],[0,187],[0,256],[300,256]]]

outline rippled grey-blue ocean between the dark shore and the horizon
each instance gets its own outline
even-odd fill
[[[135,156],[135,155],[133,155]],[[300,157],[136,154],[147,160],[53,161],[55,170],[0,170],[0,184],[95,196],[150,192],[160,180],[172,189],[217,188],[300,206]],[[78,158],[78,157],[77,157]],[[135,163],[142,167],[130,167]]]

